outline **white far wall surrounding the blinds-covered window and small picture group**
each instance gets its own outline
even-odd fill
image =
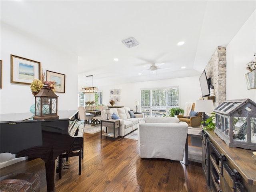
[[[132,110],[136,110],[135,101],[140,101],[140,90],[144,88],[166,88],[178,86],[180,91],[180,107],[184,108],[186,102],[195,102],[202,96],[199,76],[187,78],[175,78],[158,81],[137,82],[129,84],[115,84],[109,86],[98,87],[103,91],[103,104],[110,105],[110,89],[120,89],[120,102],[116,102],[117,106],[128,106]],[[140,107],[140,106],[138,106]],[[140,108],[138,109],[140,110]]]

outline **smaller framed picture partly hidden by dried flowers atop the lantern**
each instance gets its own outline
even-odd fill
[[[46,80],[55,81],[55,92],[64,93],[65,92],[65,76],[61,73],[56,73],[46,70]]]

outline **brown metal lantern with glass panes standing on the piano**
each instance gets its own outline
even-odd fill
[[[35,95],[35,116],[33,119],[59,118],[57,114],[58,96],[49,85],[44,85]]]

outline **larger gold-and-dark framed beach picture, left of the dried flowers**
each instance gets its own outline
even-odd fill
[[[11,83],[30,85],[34,79],[40,79],[40,70],[40,62],[11,55]]]

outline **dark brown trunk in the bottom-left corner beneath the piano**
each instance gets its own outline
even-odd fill
[[[40,180],[38,174],[14,173],[0,178],[1,191],[39,192]]]

